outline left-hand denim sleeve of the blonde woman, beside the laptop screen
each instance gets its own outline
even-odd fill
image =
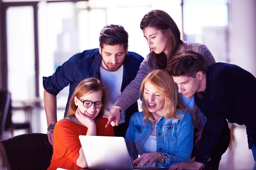
[[[126,143],[129,155],[133,160],[135,160],[138,158],[139,153],[135,146],[135,130],[133,128],[134,127],[133,117],[134,116],[131,116],[129,127],[125,134],[125,143]]]

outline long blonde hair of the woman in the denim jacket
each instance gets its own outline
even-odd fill
[[[140,99],[142,100],[142,112],[144,115],[143,120],[146,123],[148,123],[148,120],[151,120],[152,123],[155,124],[154,117],[152,113],[148,111],[143,97],[146,82],[150,82],[152,85],[154,85],[154,87],[157,90],[157,93],[165,98],[165,105],[163,107],[163,115],[165,116],[165,118],[180,119],[177,118],[175,113],[177,113],[177,110],[184,111],[183,113],[185,113],[186,109],[184,108],[182,102],[180,101],[180,94],[178,92],[177,85],[173,81],[172,77],[169,74],[167,74],[165,70],[160,69],[151,71],[143,79],[143,82],[141,84]]]

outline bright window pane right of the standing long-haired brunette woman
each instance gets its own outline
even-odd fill
[[[185,0],[183,5],[185,40],[206,45],[216,62],[228,62],[229,33],[226,0]],[[218,43],[216,43],[218,40]]]

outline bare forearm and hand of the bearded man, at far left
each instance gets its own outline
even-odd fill
[[[57,100],[54,94],[50,94],[44,89],[44,109],[47,119],[47,127],[57,122]],[[50,144],[53,144],[52,131],[47,132],[48,140]]]

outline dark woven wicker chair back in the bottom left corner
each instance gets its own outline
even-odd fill
[[[7,170],[46,170],[52,159],[47,134],[25,133],[0,141]]]

